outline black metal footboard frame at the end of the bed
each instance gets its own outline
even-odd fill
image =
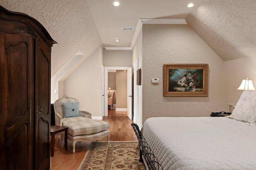
[[[135,135],[140,143],[140,162],[144,162],[142,159],[142,155],[144,156],[144,160],[146,161],[146,165],[150,170],[163,170],[162,166],[159,164],[156,156],[153,151],[150,149],[150,146],[146,142],[146,139],[143,137],[140,132],[140,128],[135,123],[132,123],[132,128],[134,129]],[[144,162],[145,163],[145,162]]]

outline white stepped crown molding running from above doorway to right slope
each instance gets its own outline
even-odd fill
[[[185,19],[150,19],[150,18],[140,18],[138,20],[130,47],[105,47],[106,50],[132,50],[137,37],[140,33],[140,29],[143,24],[187,24]]]

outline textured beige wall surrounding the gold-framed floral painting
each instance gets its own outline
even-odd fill
[[[188,25],[143,25],[143,122],[226,109],[224,62]],[[208,97],[163,97],[163,64],[209,64]],[[160,78],[154,85],[152,78]]]

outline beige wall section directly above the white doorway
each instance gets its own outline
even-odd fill
[[[106,50],[103,49],[104,66],[132,66],[131,50]]]

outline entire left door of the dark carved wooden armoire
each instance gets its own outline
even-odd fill
[[[4,81],[4,88],[0,88],[0,116],[4,120],[1,164],[3,161],[4,169],[33,169],[34,42],[27,34],[0,33],[0,37],[4,39],[0,60],[1,84]]]

